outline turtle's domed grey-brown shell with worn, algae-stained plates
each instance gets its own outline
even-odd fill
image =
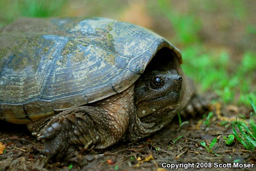
[[[104,18],[21,19],[0,30],[0,119],[30,123],[120,93],[165,39]]]

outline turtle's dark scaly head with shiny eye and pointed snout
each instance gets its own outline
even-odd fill
[[[164,108],[173,110],[180,98],[182,77],[177,71],[144,73],[135,84],[135,104],[139,118]]]

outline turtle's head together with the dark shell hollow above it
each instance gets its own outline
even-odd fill
[[[135,83],[137,115],[148,122],[160,121],[179,105],[182,76],[179,59],[169,48],[158,50]],[[168,118],[168,117],[167,117]]]

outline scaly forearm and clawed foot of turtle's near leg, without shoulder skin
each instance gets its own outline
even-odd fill
[[[60,160],[72,157],[77,147],[86,150],[94,145],[94,148],[103,149],[119,141],[129,121],[119,120],[117,115],[97,106],[82,106],[47,119],[43,127],[38,128],[41,120],[30,123],[28,129],[44,143],[49,159]]]

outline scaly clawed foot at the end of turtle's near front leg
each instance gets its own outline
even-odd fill
[[[82,108],[83,109],[83,108]],[[82,109],[70,109],[42,122],[28,125],[32,134],[44,143],[44,153],[48,160],[68,160],[75,155],[75,150],[86,150],[98,142],[99,136],[90,115]],[[39,125],[44,126],[38,128]]]

